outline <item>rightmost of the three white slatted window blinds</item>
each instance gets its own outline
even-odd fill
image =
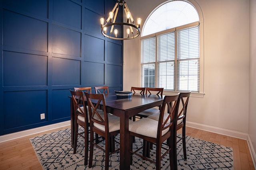
[[[177,31],[177,90],[199,92],[199,26]]]

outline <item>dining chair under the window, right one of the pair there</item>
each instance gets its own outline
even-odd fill
[[[149,88],[149,87],[146,87],[146,95],[147,94],[156,94],[156,95],[160,95],[162,96],[163,95],[163,91],[164,91],[164,88]],[[140,113],[138,113],[136,115],[137,118],[139,119],[142,119],[143,117],[148,117],[150,115],[153,115],[155,113],[159,113],[160,112],[160,107],[161,106],[158,106],[159,108],[155,108],[155,107],[152,107],[150,109],[146,109]]]

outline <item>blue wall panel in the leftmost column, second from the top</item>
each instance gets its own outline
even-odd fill
[[[4,46],[47,52],[48,23],[8,10],[3,20]]]

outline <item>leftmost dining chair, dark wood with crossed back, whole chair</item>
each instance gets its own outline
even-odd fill
[[[73,91],[70,90],[73,100],[73,108],[74,108],[74,154],[76,153],[77,147],[77,138],[78,135],[84,138],[84,165],[88,163],[88,149],[89,149],[89,120],[88,120],[88,107],[85,103],[84,92],[82,91]],[[82,133],[78,132],[78,125],[84,128]],[[84,135],[83,135],[84,134]]]

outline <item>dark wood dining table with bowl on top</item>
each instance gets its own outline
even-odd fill
[[[105,94],[108,113],[120,117],[120,170],[130,170],[129,118],[146,109],[160,106],[164,96],[133,93],[131,97],[119,98],[115,93]],[[74,140],[74,110],[70,98],[71,141]]]

